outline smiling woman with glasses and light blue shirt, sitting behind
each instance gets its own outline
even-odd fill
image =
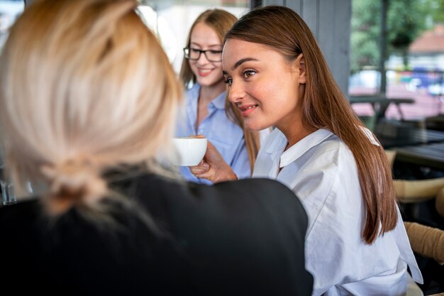
[[[228,11],[210,9],[194,21],[184,48],[180,77],[186,102],[176,136],[204,135],[218,149],[238,178],[250,177],[259,150],[257,132],[246,131],[240,113],[226,99],[222,75],[222,40],[237,18]],[[181,168],[186,180],[211,184]]]

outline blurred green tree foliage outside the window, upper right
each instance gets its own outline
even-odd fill
[[[435,9],[433,9],[435,8]],[[381,1],[352,1],[352,35],[350,70],[377,67],[379,62]],[[444,0],[389,0],[387,11],[387,57],[404,57],[408,65],[409,45],[435,20],[444,21]],[[435,15],[433,15],[433,13]],[[432,21],[431,21],[432,20]]]

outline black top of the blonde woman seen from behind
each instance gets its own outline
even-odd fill
[[[207,186],[143,175],[118,188],[149,212],[160,234],[116,204],[113,226],[93,224],[75,209],[52,223],[37,200],[1,207],[2,289],[18,295],[311,295],[306,213],[279,182]]]

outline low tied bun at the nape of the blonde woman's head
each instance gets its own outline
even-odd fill
[[[106,193],[106,182],[99,168],[89,159],[67,160],[44,165],[40,171],[50,184],[46,206],[52,214],[62,214],[76,205],[94,207]]]

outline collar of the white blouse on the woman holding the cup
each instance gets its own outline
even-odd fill
[[[318,129],[317,131],[309,134],[309,136],[306,136],[282,153],[279,168],[289,165],[289,163],[292,163],[294,160],[300,158],[301,155],[306,153],[306,151],[308,151],[310,148],[317,146],[319,143],[323,142],[326,140],[326,138],[332,135],[333,133],[331,131],[324,128]],[[282,136],[284,136],[284,134],[282,134]],[[285,139],[284,144],[287,145],[287,139]]]

